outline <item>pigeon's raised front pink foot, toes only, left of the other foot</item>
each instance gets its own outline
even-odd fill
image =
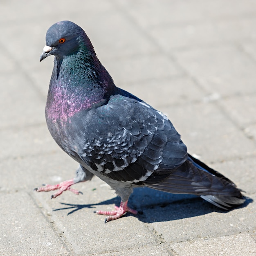
[[[42,191],[47,192],[47,191],[58,189],[58,191],[52,195],[52,198],[56,198],[58,195],[61,195],[62,192],[65,190],[69,190],[75,193],[76,195],[78,195],[79,193],[82,193],[76,189],[72,189],[70,186],[72,186],[73,184],[74,184],[74,180],[72,179],[72,180],[63,181],[60,184],[56,184],[56,185],[45,185],[44,187],[36,188],[34,190],[37,192],[42,192]]]

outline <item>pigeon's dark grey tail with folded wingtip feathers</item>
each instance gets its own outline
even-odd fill
[[[241,190],[231,180],[191,155],[164,180],[158,183],[148,180],[145,186],[174,194],[200,195],[225,210],[245,202]]]

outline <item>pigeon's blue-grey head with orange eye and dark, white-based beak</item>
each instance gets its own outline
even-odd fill
[[[46,32],[46,45],[40,61],[54,55],[58,58],[79,52],[81,48],[88,55],[94,55],[94,49],[85,31],[74,22],[60,21],[49,27]]]

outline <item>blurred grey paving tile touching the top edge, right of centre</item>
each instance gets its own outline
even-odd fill
[[[255,14],[255,2],[246,0],[232,1],[179,1],[154,0],[143,1],[115,1],[138,22],[141,27],[153,27],[165,24],[184,24],[190,22],[203,22],[205,20],[237,18],[239,16],[253,16]]]

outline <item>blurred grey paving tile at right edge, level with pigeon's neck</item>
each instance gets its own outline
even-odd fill
[[[222,95],[255,92],[256,63],[236,47],[221,46],[175,54],[178,62],[209,93]]]

